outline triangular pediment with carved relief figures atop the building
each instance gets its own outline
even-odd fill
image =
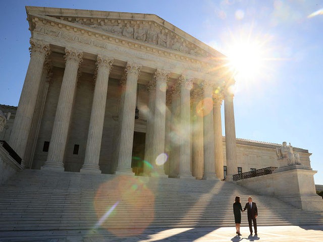
[[[225,56],[153,14],[26,7],[28,16],[47,16],[128,41],[164,48],[191,57]],[[30,21],[32,22],[32,21]],[[31,24],[32,25],[32,24]]]

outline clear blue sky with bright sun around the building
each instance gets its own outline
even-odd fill
[[[25,6],[156,14],[233,57],[237,138],[308,149],[323,185],[323,0],[2,1],[1,104],[18,105],[29,63]]]

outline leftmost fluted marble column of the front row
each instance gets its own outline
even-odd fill
[[[40,88],[43,66],[46,56],[50,54],[48,43],[31,38],[30,45],[29,66],[9,139],[10,146],[22,158],[23,166],[25,165],[25,151]]]

